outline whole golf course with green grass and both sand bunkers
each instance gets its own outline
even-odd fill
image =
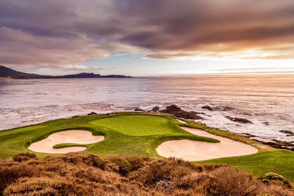
[[[192,130],[191,132],[189,132],[190,129]],[[118,113],[115,115],[74,116],[68,119],[58,119],[3,130],[0,131],[0,148],[2,149],[0,150],[0,158],[10,158],[22,152],[33,152],[38,158],[45,158],[49,155],[59,155],[59,149],[64,150],[60,151],[60,153],[66,153],[67,150],[65,149],[68,148],[69,151],[94,153],[101,157],[128,154],[160,159],[167,157],[161,156],[160,152],[161,145],[165,143],[169,147],[177,145],[177,142],[187,141],[184,142],[188,145],[188,147],[183,148],[185,151],[189,147],[192,148],[189,145],[196,144],[198,145],[196,147],[200,148],[202,143],[203,145],[220,145],[223,143],[217,137],[214,139],[207,134],[203,136],[197,135],[197,132],[193,132],[194,129],[232,141],[230,153],[234,151],[234,148],[239,149],[238,145],[242,147],[240,149],[247,150],[244,152],[247,155],[233,154],[228,155],[229,157],[225,154],[220,156],[222,153],[220,151],[217,155],[222,158],[197,159],[203,161],[195,163],[226,163],[237,169],[252,172],[255,177],[275,172],[294,183],[293,151],[268,147],[249,140],[242,135],[217,130],[194,121],[184,119],[177,121],[172,115]],[[62,139],[58,141],[58,137],[62,137]],[[85,137],[84,140],[83,137]],[[35,150],[34,145],[41,141],[44,143],[39,143],[39,147],[54,141],[55,143],[52,143],[52,147],[50,147],[53,151],[46,153],[45,151],[42,152],[41,148],[38,148],[39,151]],[[168,142],[173,142],[173,144],[171,145]],[[226,145],[229,144],[227,142]],[[176,146],[173,147],[175,148]],[[171,149],[171,152],[165,152],[172,153],[176,150]],[[197,153],[201,153],[201,149]],[[202,153],[205,153],[205,150],[202,150]],[[238,153],[240,153],[240,150]],[[190,161],[193,161],[193,159]]]

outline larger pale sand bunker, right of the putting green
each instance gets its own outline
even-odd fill
[[[228,138],[210,134],[206,131],[182,127],[192,134],[214,138],[221,143],[197,142],[191,140],[177,140],[162,143],[156,148],[159,155],[177,157],[188,161],[202,161],[221,157],[241,156],[258,151],[255,147]]]

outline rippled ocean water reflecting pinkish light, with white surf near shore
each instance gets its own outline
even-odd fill
[[[294,141],[279,132],[294,132],[294,75],[0,80],[0,130],[32,124],[32,112],[41,123],[171,104],[205,113],[198,122],[212,127]],[[217,109],[201,108],[206,105]]]

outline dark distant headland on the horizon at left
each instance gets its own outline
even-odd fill
[[[77,73],[77,74],[69,74],[69,75],[39,75],[34,73],[18,72],[0,65],[0,79],[58,79],[58,78],[112,78],[112,77],[132,77],[132,76],[100,75],[95,73]]]

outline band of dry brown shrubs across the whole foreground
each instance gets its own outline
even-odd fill
[[[283,176],[254,179],[224,164],[86,153],[35,156],[0,160],[3,196],[293,196]]]

